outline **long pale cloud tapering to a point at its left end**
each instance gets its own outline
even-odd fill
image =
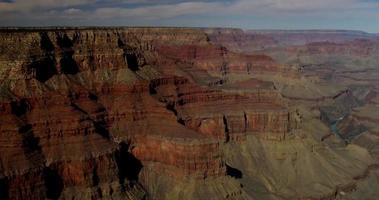
[[[145,2],[151,2],[146,0]],[[169,2],[169,1],[166,1]],[[93,18],[167,19],[183,15],[211,16],[279,16],[320,15],[342,12],[379,10],[379,3],[360,0],[237,0],[237,1],[191,1],[164,5],[147,5],[135,8],[97,8],[87,14]],[[367,12],[367,11],[366,11]]]

